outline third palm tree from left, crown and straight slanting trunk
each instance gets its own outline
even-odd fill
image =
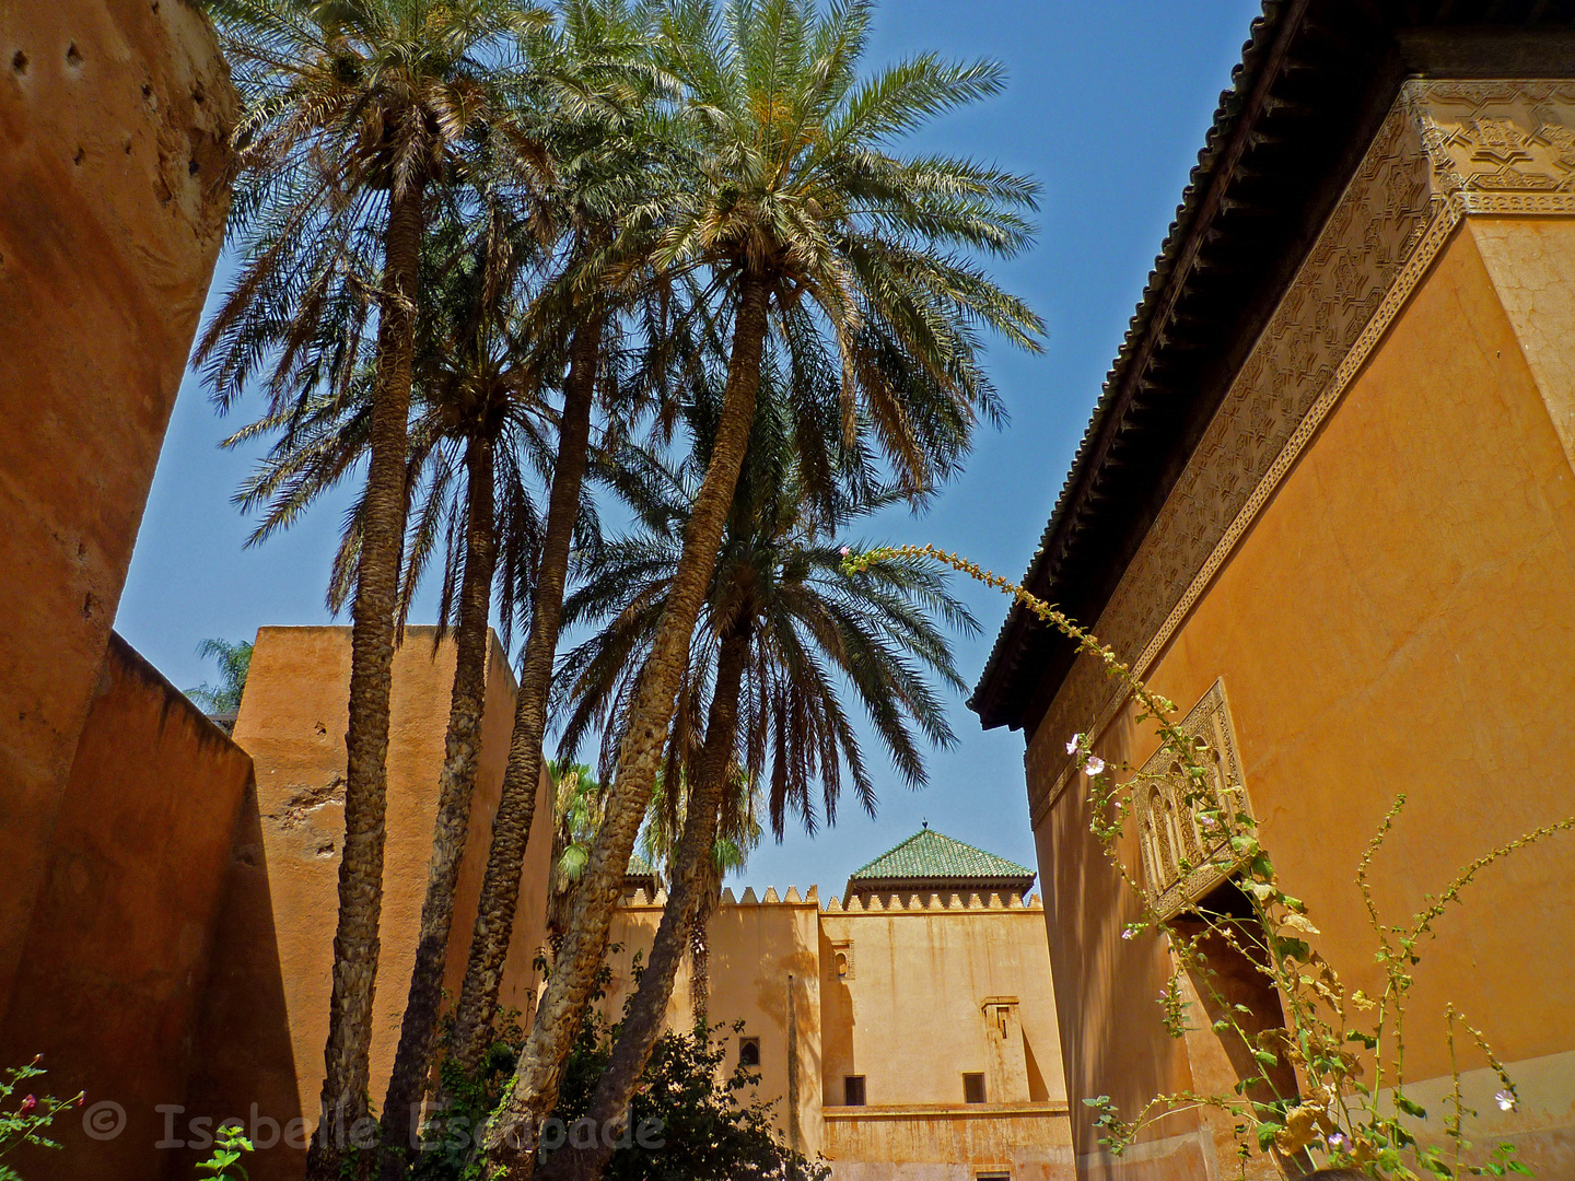
[[[567,375],[547,524],[529,579],[529,630],[520,660],[509,761],[449,1047],[450,1060],[465,1072],[474,1072],[491,1046],[513,935],[542,775],[547,701],[572,540],[592,461],[597,391],[602,389],[603,403],[621,402],[621,389],[632,391],[632,402],[641,403],[644,387],[652,384],[643,373],[652,365],[660,372],[673,331],[674,305],[663,298],[665,283],[649,282],[649,274],[625,274],[619,290],[606,282],[610,242],[619,220],[627,209],[647,203],[669,172],[665,145],[649,123],[660,79],[644,58],[647,35],[649,14],[643,5],[561,0],[553,35],[537,43],[537,69],[553,83],[564,159],[556,195],[567,233],[558,279],[537,301],[534,323],[542,335],[565,335]],[[650,315],[652,304],[663,312]],[[635,365],[633,376],[614,373],[624,351],[621,342],[630,335],[625,329],[630,317],[639,320],[633,324],[635,335],[646,342],[646,361]]]

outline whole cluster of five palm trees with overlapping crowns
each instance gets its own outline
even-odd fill
[[[850,573],[841,534],[920,505],[1000,405],[986,331],[1035,313],[981,258],[1032,235],[1022,176],[895,143],[1002,87],[920,55],[862,74],[866,0],[209,0],[243,115],[238,276],[198,340],[257,540],[354,490],[329,575],[353,617],[345,841],[309,1178],[405,1176],[438,1053],[487,628],[520,693],[469,964],[443,1052],[491,1042],[550,721],[600,735],[594,836],[496,1116],[487,1175],[528,1176],[641,831],[671,866],[594,1112],[627,1105],[724,850],[835,819],[874,786],[844,698],[910,784],[947,743],[934,680],[972,628],[932,565]],[[632,524],[605,537],[598,502]],[[381,1150],[370,1118],[389,671],[436,561],[457,669],[438,822]],[[567,594],[573,586],[573,594]],[[595,630],[559,658],[565,627]],[[649,820],[647,820],[649,817]],[[701,1001],[702,1006],[702,1001]],[[545,1170],[595,1176],[562,1151]]]

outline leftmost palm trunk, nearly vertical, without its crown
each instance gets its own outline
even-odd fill
[[[384,238],[384,291],[378,309],[376,395],[354,625],[350,631],[350,726],[345,734],[345,846],[339,861],[334,987],[323,1050],[323,1113],[307,1153],[309,1181],[339,1181],[356,1142],[370,1143],[367,1120],[372,998],[383,918],[383,820],[387,811],[389,682],[394,606],[405,537],[405,468],[410,439],[411,351],[424,228],[422,192],[392,197]],[[358,1124],[361,1131],[358,1132]]]

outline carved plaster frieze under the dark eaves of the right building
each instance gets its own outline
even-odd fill
[[[1575,82],[1411,80],[1095,624],[1147,676],[1460,219],[1575,214]],[[1079,657],[1027,751],[1038,828],[1126,694]]]

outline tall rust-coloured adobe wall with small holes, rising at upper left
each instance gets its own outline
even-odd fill
[[[224,235],[235,91],[184,0],[0,6],[0,1008]]]

